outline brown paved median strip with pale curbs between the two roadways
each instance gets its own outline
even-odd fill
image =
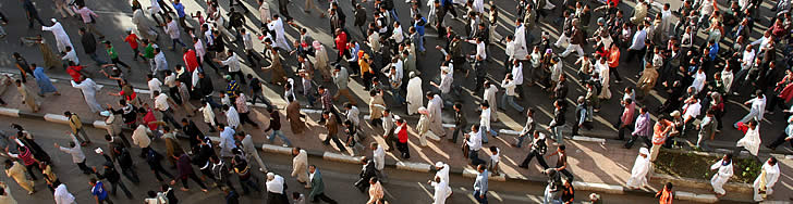
[[[94,120],[103,120],[98,114],[93,114],[88,111],[78,89],[72,88],[70,85],[66,84],[66,81],[63,80],[58,80],[54,82],[54,85],[61,92],[61,95],[47,95],[44,99],[39,98],[37,101],[39,101],[42,105],[41,111],[38,114],[62,115],[64,111],[71,111],[73,113],[77,113],[84,123],[93,124]],[[30,88],[32,91],[38,91],[35,82],[30,81],[27,84],[27,86]],[[13,85],[12,87],[8,87],[8,89],[9,90],[7,90],[4,93],[0,94],[0,97],[9,103],[9,105],[7,105],[5,107],[16,109],[20,110],[20,112],[29,112],[26,105],[21,104],[21,99]],[[103,86],[100,92],[97,94],[97,100],[101,104],[115,104],[118,98],[107,94],[108,92],[114,91],[118,91],[117,87]],[[138,94],[138,97],[144,100],[144,102],[150,102],[148,93]],[[278,101],[273,101],[273,103],[279,107],[283,107],[283,103],[280,103]],[[58,103],[58,105],[53,105],[54,103]],[[254,116],[254,119],[260,125],[261,128],[266,128],[269,125],[269,117],[268,115],[266,115],[264,109],[252,109],[252,112],[254,113],[252,114],[252,116]],[[317,112],[305,112],[309,116],[306,117],[309,129],[303,135],[293,135],[291,129],[288,127],[289,125],[285,116],[283,116],[283,114],[285,114],[284,111],[280,110],[280,112],[282,113],[282,130],[293,144],[296,144],[306,150],[310,150],[312,152],[338,153],[338,149],[335,149],[332,144],[322,145],[321,143],[321,139],[327,136],[327,130],[325,130],[322,126],[316,123],[316,120],[319,118],[319,114]],[[218,116],[218,120],[221,123],[225,120],[224,116],[222,115],[223,114],[221,113],[216,113],[216,116]],[[184,113],[182,113],[182,110],[176,110],[175,118],[179,120],[183,117]],[[205,131],[205,133],[208,132],[209,127],[207,127],[203,123],[203,119],[200,117],[193,117],[190,119],[193,119],[196,125]],[[363,122],[368,120],[362,120],[362,123]],[[364,126],[364,132],[367,132],[367,137],[363,142],[364,145],[368,145],[368,143],[371,141],[378,141],[379,143],[385,145],[381,137],[375,137],[382,133],[381,128],[377,127],[373,129],[368,125],[368,123],[362,125]],[[464,168],[469,168],[467,167],[467,162],[463,157],[462,151],[460,150],[462,138],[460,138],[460,141],[457,141],[457,143],[455,144],[452,144],[446,139],[441,139],[441,141],[439,142],[429,142],[428,146],[423,148],[419,145],[418,137],[416,136],[415,129],[413,129],[413,127],[415,127],[415,122],[408,120],[408,126],[411,126],[408,132],[412,136],[410,140],[410,150],[412,155],[411,160],[403,161],[394,153],[387,153],[388,160],[395,162],[425,164],[434,164],[435,162],[441,161],[449,164],[452,167],[452,170],[457,173],[465,171]],[[263,132],[260,130],[254,129],[251,126],[244,126],[244,129],[246,132],[254,136],[254,141],[256,143],[268,143],[265,139],[265,133],[269,132]],[[208,135],[217,136],[213,133]],[[448,135],[451,137],[451,131],[448,131]],[[342,137],[340,139],[343,138],[345,137]],[[525,157],[528,148],[524,146],[523,149],[525,150],[517,150],[510,146],[509,144],[513,143],[514,141],[514,136],[501,133],[498,138],[491,138],[490,143],[485,144],[485,148],[496,145],[501,150],[502,164],[500,167],[502,169],[502,173],[507,175],[507,178],[535,181],[545,180],[545,176],[540,174],[539,165],[537,164],[537,162],[535,162],[536,160],[529,164],[528,169],[517,167],[517,165]],[[573,173],[573,175],[575,175],[575,181],[587,183],[605,183],[622,187],[630,177],[630,170],[633,167],[633,162],[635,161],[636,152],[638,151],[638,148],[625,150],[621,148],[620,143],[615,143],[613,141],[593,142],[591,140],[568,140],[565,141],[565,143],[568,144],[569,162],[571,165],[569,169],[571,170],[571,173]],[[280,144],[281,141],[276,142],[276,145]],[[552,145],[549,146],[549,152],[553,151],[552,149]],[[369,150],[365,150],[364,152],[366,153],[365,155],[370,155]],[[485,149],[483,149],[483,151],[480,152],[486,151]],[[489,157],[489,153],[480,153],[479,156],[480,158],[487,160]],[[556,164],[556,156],[546,158],[548,164],[551,166]],[[780,167],[782,173],[791,171],[793,161],[780,161]],[[791,184],[793,184],[793,178],[784,176],[780,178],[780,181],[777,183],[777,188],[774,189],[776,193],[773,196],[770,197],[770,200],[788,201],[786,195],[793,193],[791,192],[791,188],[786,188]],[[650,181],[650,187],[648,187],[648,191],[655,192],[660,188],[661,183]],[[693,192],[697,194],[708,193],[707,189],[676,188],[676,190]],[[724,199],[735,201],[751,201],[751,195],[732,193]]]

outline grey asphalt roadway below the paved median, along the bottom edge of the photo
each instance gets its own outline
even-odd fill
[[[41,120],[33,119],[16,119],[10,117],[0,117],[7,122],[13,122],[22,125],[28,131],[30,131],[36,139],[36,142],[47,151],[54,163],[54,171],[59,178],[69,187],[69,190],[75,195],[78,203],[91,203],[93,197],[89,194],[89,186],[87,180],[89,176],[85,176],[80,173],[78,168],[71,162],[71,156],[63,152],[57,151],[52,143],[57,142],[65,144],[68,140],[64,138],[64,131],[69,130],[69,126],[51,124]],[[12,129],[3,125],[0,130],[10,133],[15,132]],[[105,160],[100,155],[93,153],[93,149],[99,146],[106,146],[106,142],[100,139],[100,136],[105,133],[105,130],[87,128],[87,133],[94,141],[94,144],[89,148],[84,148],[84,152],[87,156],[88,166],[101,165]],[[181,141],[186,144],[186,141]],[[163,150],[164,143],[161,140],[157,140],[152,143],[155,150]],[[136,155],[139,149],[132,149],[132,154]],[[285,176],[290,189],[289,192],[297,191],[307,194],[309,190],[303,189],[297,181],[291,177],[291,161],[292,158],[286,155],[260,153],[268,167],[276,174]],[[145,193],[149,190],[156,190],[159,183],[156,182],[151,174],[148,174],[147,165],[145,161],[133,156],[133,160],[137,166],[138,176],[141,176],[142,182],[138,186],[132,184],[125,178],[124,180],[133,192],[134,199],[127,200],[123,193],[119,193],[118,196],[111,199],[115,203],[139,203],[146,196]],[[350,165],[345,163],[326,162],[319,158],[309,158],[309,164],[317,165],[322,173],[327,194],[337,200],[339,203],[364,203],[368,200],[368,194],[363,194],[353,187],[353,183],[357,180],[357,174],[361,170],[358,165]],[[170,164],[163,162],[163,166],[168,168]],[[171,173],[175,173],[175,169],[168,169]],[[434,174],[416,174],[413,171],[402,171],[393,168],[387,168],[389,176],[389,182],[383,184],[387,191],[387,200],[391,203],[431,203],[432,188],[426,184],[426,181],[430,179]],[[38,175],[38,174],[37,174]],[[260,173],[255,173],[255,176],[259,178],[259,181],[264,178]],[[91,176],[93,177],[93,176]],[[52,194],[47,190],[44,181],[36,181],[37,193],[33,196],[26,195],[25,191],[20,188],[12,179],[0,176],[0,180],[4,181],[11,188],[11,192],[20,203],[51,203]],[[451,186],[454,191],[452,196],[448,200],[449,203],[474,203],[471,195],[473,179],[463,178],[461,176],[451,176]],[[239,188],[236,178],[232,179],[232,182]],[[181,183],[174,186],[176,195],[183,203],[198,203],[198,202],[210,202],[221,203],[223,200],[222,192],[219,190],[212,190],[208,193],[198,191],[197,186],[191,181],[190,186],[192,190],[188,192],[182,192],[178,189]],[[264,188],[264,183],[260,183]],[[537,183],[528,182],[490,182],[489,201],[492,203],[537,203],[541,201],[542,190],[545,187]],[[591,192],[576,191],[576,201],[588,201],[588,195]],[[651,203],[656,200],[654,197],[638,196],[638,195],[611,195],[603,194],[605,203]],[[243,196],[243,202],[261,202],[266,199],[266,195],[252,193],[251,195]],[[675,203],[678,203],[675,201]],[[686,203],[686,202],[681,202]]]

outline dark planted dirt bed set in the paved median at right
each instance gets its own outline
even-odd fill
[[[721,157],[662,151],[658,154],[654,168],[656,173],[675,177],[710,180],[716,174],[710,170],[710,165],[719,160]],[[753,183],[760,174],[762,164],[755,158],[733,157],[732,161],[734,174],[730,178],[730,182]]]

